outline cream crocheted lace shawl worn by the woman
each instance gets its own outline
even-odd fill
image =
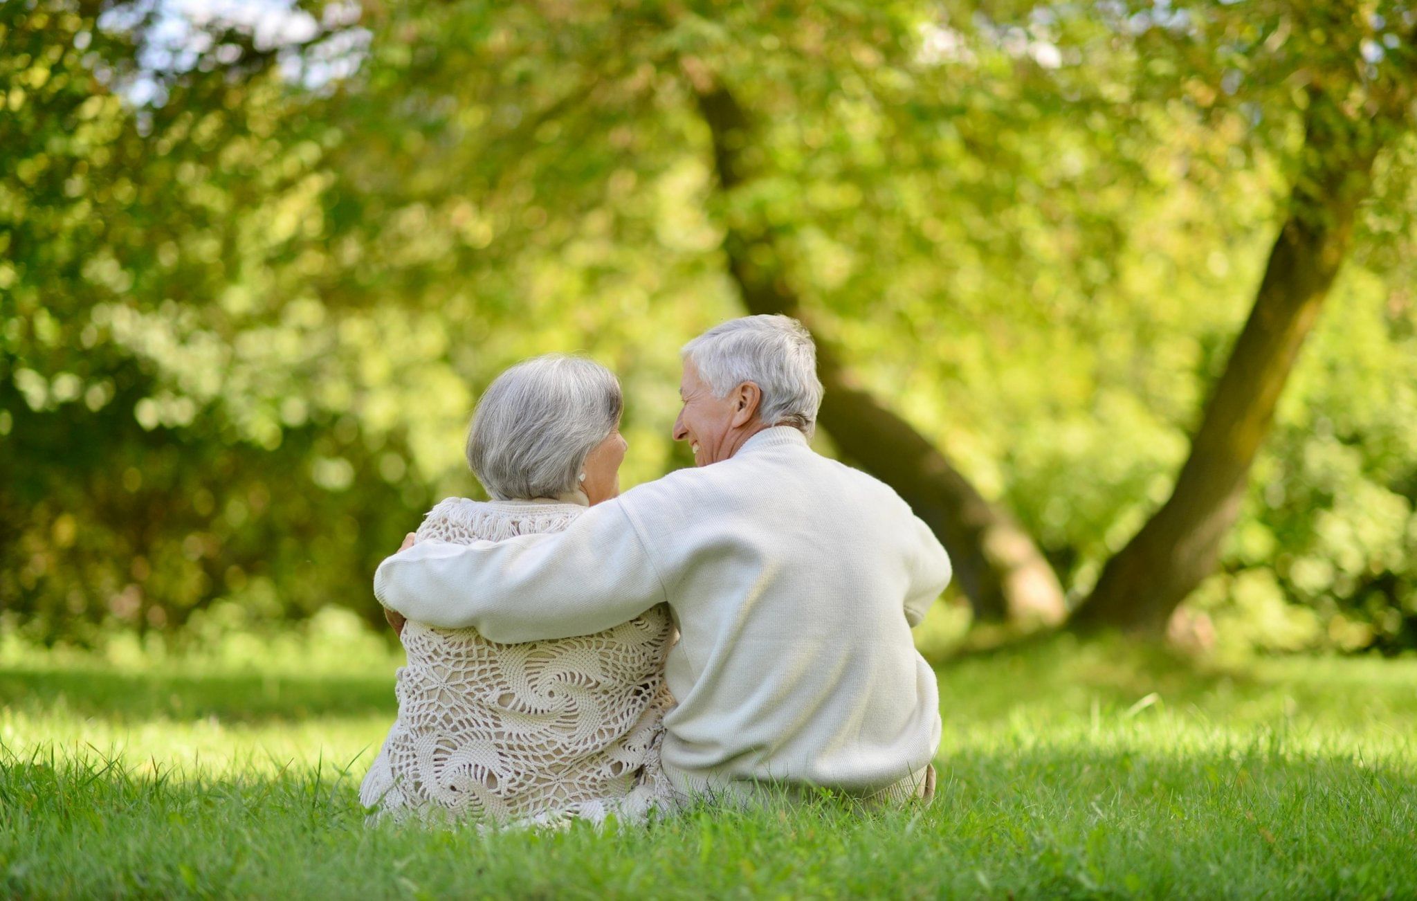
[[[428,513],[418,540],[470,544],[561,531],[584,511],[451,497]],[[374,819],[642,816],[672,796],[659,747],[674,704],[665,656],[676,638],[663,605],[595,635],[523,645],[408,622],[398,720],[360,802],[376,809]]]

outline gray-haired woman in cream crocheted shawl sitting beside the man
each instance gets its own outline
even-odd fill
[[[502,541],[561,531],[619,494],[619,382],[589,360],[536,357],[478,404],[468,465],[490,502],[449,497],[417,541]],[[662,718],[673,706],[663,605],[618,626],[524,645],[410,620],[398,720],[360,788],[378,816],[547,822],[643,812],[663,790]]]

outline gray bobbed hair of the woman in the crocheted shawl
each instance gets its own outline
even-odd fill
[[[468,466],[496,500],[567,494],[623,408],[619,380],[598,363],[565,354],[523,360],[478,401]]]

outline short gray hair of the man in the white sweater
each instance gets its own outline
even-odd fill
[[[745,381],[762,391],[758,418],[768,425],[791,425],[809,438],[822,407],[812,333],[789,316],[744,316],[708,329],[684,344],[699,377],[717,397]]]

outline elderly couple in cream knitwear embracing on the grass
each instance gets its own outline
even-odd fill
[[[808,446],[811,334],[717,326],[683,348],[680,394],[696,468],[619,496],[614,374],[537,357],[487,388],[468,463],[492,500],[442,502],[374,578],[408,654],[360,792],[378,816],[934,795],[935,676],[910,629],[949,558],[891,489]]]

